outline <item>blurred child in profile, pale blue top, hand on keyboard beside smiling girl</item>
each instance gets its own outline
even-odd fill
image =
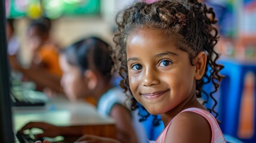
[[[116,139],[121,142],[146,142],[146,133],[138,122],[137,114],[131,114],[124,106],[126,96],[120,88],[112,85],[112,58],[109,45],[98,38],[82,39],[69,46],[60,57],[63,70],[61,85],[71,101],[91,97],[97,101],[97,110],[103,116],[116,121]],[[58,127],[48,123],[29,123],[25,129],[40,128],[44,136],[80,136],[82,129]]]

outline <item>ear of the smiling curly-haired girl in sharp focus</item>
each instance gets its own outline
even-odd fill
[[[196,66],[195,79],[200,80],[205,74],[207,55],[205,52],[199,52],[199,54],[194,59],[193,64]]]

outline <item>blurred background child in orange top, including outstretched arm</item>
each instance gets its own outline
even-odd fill
[[[27,51],[32,54],[28,68],[10,58],[11,67],[20,71],[24,79],[36,84],[36,89],[48,95],[63,93],[60,86],[62,71],[58,64],[58,47],[50,40],[50,31],[45,23],[33,20],[27,29]]]

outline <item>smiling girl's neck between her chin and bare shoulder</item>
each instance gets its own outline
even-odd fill
[[[191,107],[202,108],[203,110],[205,110],[205,107],[203,107],[203,105],[196,98],[196,94],[193,94],[190,98],[182,102],[177,107],[173,108],[167,113],[161,114],[161,119],[164,122],[164,126],[166,127],[178,113],[185,110],[186,108]]]

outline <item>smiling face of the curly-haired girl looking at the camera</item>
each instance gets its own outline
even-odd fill
[[[129,87],[151,114],[162,114],[195,95],[196,67],[163,30],[138,29],[127,39]]]

